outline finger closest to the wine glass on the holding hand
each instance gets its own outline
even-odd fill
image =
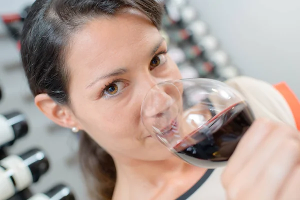
[[[253,122],[238,143],[222,174],[222,183],[225,188],[236,173],[249,161],[257,146],[273,128],[273,122],[268,119],[257,119]]]

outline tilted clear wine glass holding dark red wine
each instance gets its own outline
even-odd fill
[[[151,136],[179,158],[216,168],[226,164],[254,116],[235,89],[191,78],[154,85],[142,102],[141,119]]]

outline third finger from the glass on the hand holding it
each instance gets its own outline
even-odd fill
[[[251,193],[259,195],[261,199],[265,200],[276,199],[278,191],[284,186],[284,182],[290,175],[293,176],[291,173],[293,173],[292,171],[299,159],[300,143],[293,138],[284,140],[272,155],[265,169],[259,174],[258,181]],[[284,195],[287,193],[285,192]]]

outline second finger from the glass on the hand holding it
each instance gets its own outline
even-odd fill
[[[235,171],[235,176],[231,177],[227,190],[229,197],[235,199],[238,193],[249,190],[249,187],[259,181],[261,171],[269,164],[270,158],[278,151],[282,141],[284,141],[284,128],[273,130],[257,148],[248,156],[248,161],[239,170]]]

